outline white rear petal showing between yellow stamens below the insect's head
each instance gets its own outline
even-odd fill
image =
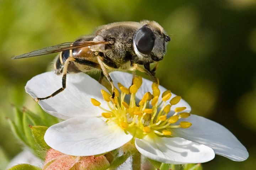
[[[123,86],[125,86],[127,88],[130,85],[132,85],[132,77],[133,77],[132,74],[115,71],[115,72],[111,72],[110,76],[111,76],[112,80],[114,81],[114,85],[116,87],[118,87],[117,83],[121,83]],[[142,78],[142,81],[143,81],[142,86],[140,87],[140,89],[136,93],[137,103],[139,103],[139,101],[142,99],[142,97],[144,96],[144,94],[146,92],[150,92],[151,94],[153,94],[153,90],[152,90],[152,83],[153,82],[148,80],[148,79],[144,79],[144,78]],[[160,102],[160,101],[162,101],[162,93],[165,92],[167,89],[165,89],[165,87],[159,85],[159,90],[161,92],[161,94],[159,96],[159,102]],[[172,98],[174,98],[175,96],[177,96],[173,93],[171,93],[171,94],[172,95],[171,95],[170,100]],[[169,104],[170,100],[168,100],[166,103]],[[190,105],[183,99],[181,99],[180,102],[178,102],[177,104],[175,104],[174,106],[171,107],[171,113],[170,114],[174,113],[174,109],[176,107],[186,107],[186,109],[183,112],[190,112],[191,111]]]

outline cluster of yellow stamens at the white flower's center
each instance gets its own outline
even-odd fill
[[[114,98],[111,98],[112,96],[105,90],[101,90],[103,99],[108,104],[108,109],[102,108],[101,103],[94,98],[91,98],[91,102],[104,111],[101,115],[107,119],[108,125],[119,125],[126,133],[137,138],[143,138],[151,133],[171,137],[172,128],[189,128],[192,125],[187,121],[176,123],[179,119],[190,116],[190,113],[182,112],[186,107],[176,107],[175,113],[171,117],[167,117],[171,107],[180,102],[181,97],[175,96],[167,103],[171,98],[171,91],[166,90],[162,93],[162,100],[160,101],[159,83],[152,84],[153,94],[146,92],[142,100],[136,103],[136,93],[141,85],[142,77],[140,76],[133,79],[129,88],[118,83],[121,94],[115,89],[116,96]],[[130,96],[129,102],[125,101],[127,95]]]

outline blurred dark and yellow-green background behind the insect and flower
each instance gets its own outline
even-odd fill
[[[203,168],[256,169],[255,0],[0,0],[0,169],[22,149],[6,120],[11,103],[35,108],[24,86],[49,70],[56,54],[11,56],[73,41],[102,24],[143,19],[175,35],[157,70],[160,84],[190,103],[193,114],[228,128],[249,151],[244,162],[217,155]]]

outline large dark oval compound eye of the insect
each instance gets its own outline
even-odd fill
[[[140,53],[148,55],[153,50],[155,34],[147,25],[145,25],[135,34],[134,42]]]

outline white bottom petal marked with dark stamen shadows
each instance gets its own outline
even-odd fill
[[[215,156],[212,148],[180,137],[136,138],[135,146],[145,157],[167,164],[203,163]]]

